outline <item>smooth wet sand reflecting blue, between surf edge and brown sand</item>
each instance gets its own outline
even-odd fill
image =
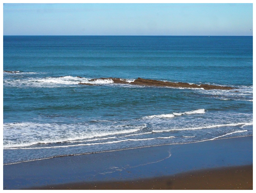
[[[146,189],[149,186],[145,186],[145,182],[139,183],[138,186],[132,186],[130,183],[147,181],[153,184],[153,179],[158,179],[154,185],[155,188],[158,184],[158,188],[163,189],[163,183],[170,181],[173,175],[188,173],[199,175],[202,171],[214,172],[219,169],[222,171],[219,174],[223,175],[227,173],[223,171],[227,171],[230,167],[241,171],[245,166],[247,169],[244,169],[246,170],[244,178],[251,183],[252,164],[253,136],[216,139],[199,143],[126,149],[4,165],[3,189],[51,189],[51,187],[70,189],[71,186],[76,189],[83,184],[86,186],[82,189],[86,187],[91,189],[88,187],[95,183],[102,190],[107,187]],[[234,177],[234,174],[229,174],[230,177]],[[207,177],[207,179],[210,178]],[[212,178],[218,179],[216,175]],[[185,178],[180,179],[183,179],[181,180],[183,182],[186,181]],[[177,182],[177,178],[175,180]],[[163,182],[161,186],[160,181]],[[115,185],[117,183],[120,185]],[[89,184],[91,186],[88,186]],[[127,184],[129,186],[126,186]],[[229,188],[227,185],[225,187]],[[169,188],[178,189],[179,187]]]

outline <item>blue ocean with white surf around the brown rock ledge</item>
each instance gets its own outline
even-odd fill
[[[3,36],[3,70],[3,164],[253,135],[253,36]]]

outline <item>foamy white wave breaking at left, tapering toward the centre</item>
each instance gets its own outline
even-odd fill
[[[102,138],[102,137],[105,137],[105,136],[118,135],[118,134],[130,134],[130,133],[140,131],[140,130],[144,129],[146,127],[146,125],[145,124],[138,125],[138,126],[116,125],[116,126],[114,126],[115,128],[122,127],[124,129],[122,129],[122,130],[115,129],[112,131],[104,131],[104,130],[101,131],[101,129],[98,127],[89,128],[90,133],[84,131],[84,129],[83,129],[84,127],[85,127],[85,125],[82,125],[82,124],[81,125],[79,125],[79,124],[70,124],[70,125],[62,124],[62,125],[60,125],[60,124],[39,124],[39,123],[30,123],[30,122],[3,124],[4,130],[8,129],[8,128],[15,129],[14,135],[17,135],[17,134],[23,135],[23,133],[31,132],[28,140],[33,140],[32,142],[20,142],[20,143],[16,142],[16,143],[12,143],[12,144],[10,144],[10,143],[4,144],[3,148],[26,147],[26,146],[37,145],[37,144],[62,143],[62,142],[71,142],[71,141],[75,141],[75,140],[80,140],[80,142],[81,142],[81,140],[83,140],[83,139],[87,139],[87,141],[90,141],[89,139],[92,139],[92,138],[97,138],[97,139],[92,139],[91,141],[101,140],[101,139],[104,140],[104,138]],[[104,127],[106,127],[106,126],[104,126]],[[35,128],[37,128],[37,130]],[[39,128],[41,128],[40,131],[38,130]],[[73,136],[67,136],[67,137],[63,138],[60,133],[63,133],[63,132],[65,132],[65,130],[68,130],[71,128],[78,129],[78,130],[72,134]],[[27,132],[24,131],[23,129],[26,129]],[[95,131],[92,129],[94,129]],[[54,136],[54,137],[49,138],[47,140],[46,139],[44,139],[44,140],[31,139],[31,136],[33,136],[34,133],[37,133],[37,135],[40,134],[41,135],[40,138],[45,138],[45,136],[47,136],[47,137]],[[4,138],[8,138],[8,136],[5,136],[5,134],[4,134]],[[106,139],[111,139],[111,138],[112,137],[109,137]]]

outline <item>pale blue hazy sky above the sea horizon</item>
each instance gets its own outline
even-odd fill
[[[4,3],[3,35],[253,35],[253,4]]]

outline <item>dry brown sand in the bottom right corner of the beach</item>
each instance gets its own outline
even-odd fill
[[[204,169],[131,181],[80,182],[24,190],[253,190],[253,165]]]

